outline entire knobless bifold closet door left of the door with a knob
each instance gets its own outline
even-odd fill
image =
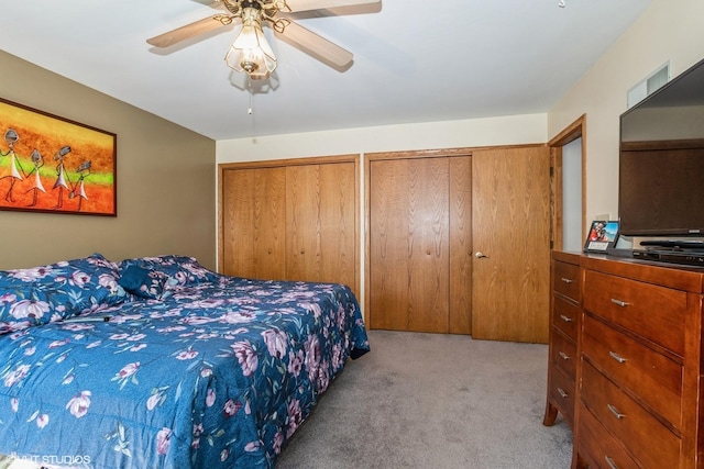
[[[373,159],[369,171],[370,327],[469,334],[471,157]]]

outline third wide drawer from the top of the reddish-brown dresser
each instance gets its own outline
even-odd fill
[[[679,467],[681,440],[588,361],[582,362],[580,395],[608,433],[619,442],[627,442],[644,467]]]

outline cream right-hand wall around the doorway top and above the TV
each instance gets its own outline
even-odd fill
[[[670,60],[675,77],[704,58],[704,0],[654,0],[548,113],[550,137],[586,113],[586,217],[618,213],[618,124],[626,94]]]

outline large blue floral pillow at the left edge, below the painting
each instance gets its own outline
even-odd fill
[[[100,254],[0,271],[0,333],[119,304],[127,293],[117,265]]]

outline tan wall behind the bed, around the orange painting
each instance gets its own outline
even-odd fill
[[[0,270],[95,252],[189,255],[215,268],[215,141],[2,51],[0,70],[0,97],[118,135],[118,216],[0,211]]]

